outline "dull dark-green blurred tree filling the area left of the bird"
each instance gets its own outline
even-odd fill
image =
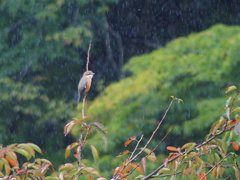
[[[63,148],[62,130],[76,112],[89,40],[98,42],[94,29],[103,29],[114,1],[0,2],[1,143]]]

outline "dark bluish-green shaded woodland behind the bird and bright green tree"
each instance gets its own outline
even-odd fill
[[[238,24],[238,5],[235,0],[2,0],[0,123],[6,134],[0,141],[50,147],[44,136],[62,136],[63,122],[76,113],[91,37],[90,68],[96,76],[88,98],[125,77],[122,67],[132,55],[216,22]],[[62,142],[51,148],[58,150]]]

